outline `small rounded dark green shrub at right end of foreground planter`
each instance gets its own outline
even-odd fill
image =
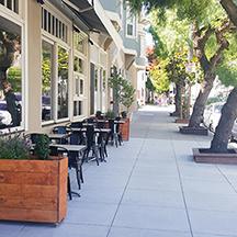
[[[34,154],[38,159],[45,160],[49,157],[49,138],[45,134],[38,134],[36,142]]]

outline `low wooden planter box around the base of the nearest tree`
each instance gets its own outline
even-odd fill
[[[230,150],[233,153],[214,154],[214,153],[205,153],[205,149],[193,148],[193,159],[196,162],[204,162],[204,163],[237,165],[237,149],[230,149]]]

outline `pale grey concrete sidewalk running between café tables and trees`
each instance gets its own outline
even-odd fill
[[[191,149],[212,137],[179,134],[168,112],[145,106],[128,143],[84,166],[81,198],[59,226],[0,223],[0,237],[237,236],[237,167],[193,162]]]

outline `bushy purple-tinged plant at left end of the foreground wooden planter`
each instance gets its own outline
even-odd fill
[[[30,146],[21,133],[0,137],[0,159],[29,159]]]

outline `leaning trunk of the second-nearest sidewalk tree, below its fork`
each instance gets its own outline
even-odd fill
[[[205,104],[208,99],[208,94],[213,88],[215,77],[216,75],[212,72],[207,72],[205,75],[204,81],[202,82],[202,88],[199,92],[199,95],[193,106],[193,112],[190,117],[189,127],[200,127],[201,123],[203,122]]]

